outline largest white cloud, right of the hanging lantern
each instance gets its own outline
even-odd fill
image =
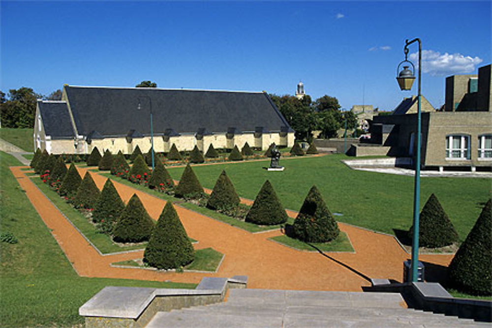
[[[418,53],[410,54],[410,60],[418,67]],[[461,54],[441,53],[433,50],[422,51],[422,71],[431,75],[452,75],[457,73],[472,73],[476,66],[484,61],[478,57]]]

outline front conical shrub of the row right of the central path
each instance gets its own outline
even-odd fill
[[[293,231],[297,239],[306,242],[326,242],[338,237],[340,230],[337,221],[316,186],[312,186],[307,193],[294,220]]]

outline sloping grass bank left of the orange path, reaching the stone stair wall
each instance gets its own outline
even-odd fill
[[[0,231],[19,242],[0,243],[2,327],[83,324],[78,308],[105,286],[194,288],[195,284],[79,277],[12,176],[21,165],[0,152]]]

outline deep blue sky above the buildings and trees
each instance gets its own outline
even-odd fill
[[[266,90],[394,109],[405,39],[423,42],[423,94],[491,62],[491,1],[4,1],[0,89],[63,84]],[[417,52],[410,46],[410,53]]]

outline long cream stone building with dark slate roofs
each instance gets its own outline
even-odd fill
[[[266,92],[65,85],[61,101],[38,100],[34,149],[87,154],[292,147],[294,131]]]

